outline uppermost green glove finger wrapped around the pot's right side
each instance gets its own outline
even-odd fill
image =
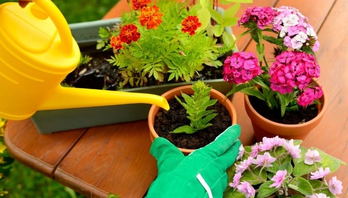
[[[219,157],[232,147],[240,135],[241,127],[235,124],[222,132],[212,143],[196,151],[204,153],[204,155],[209,155],[212,158]]]

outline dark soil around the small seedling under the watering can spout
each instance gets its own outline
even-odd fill
[[[183,100],[181,98],[181,100]],[[175,128],[183,125],[189,125],[190,121],[186,118],[186,109],[176,100],[171,99],[168,101],[170,110],[166,111],[160,109],[155,117],[154,128],[160,137],[168,139],[178,148],[197,149],[208,145],[213,142],[215,138],[231,126],[231,116],[224,105],[216,103],[207,109],[215,109],[215,113],[218,113],[210,123],[213,124],[203,130],[197,131],[193,134],[186,133],[169,133]]]

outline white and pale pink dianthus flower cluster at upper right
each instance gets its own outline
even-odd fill
[[[279,32],[280,38],[284,38],[286,47],[301,49],[306,45],[311,46],[313,51],[318,51],[318,37],[307,17],[293,7],[281,6],[274,10],[277,14],[273,19],[273,30]]]

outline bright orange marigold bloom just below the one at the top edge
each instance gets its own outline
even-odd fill
[[[139,21],[146,29],[157,29],[162,23],[163,13],[159,13],[160,8],[156,5],[143,7],[140,10]]]

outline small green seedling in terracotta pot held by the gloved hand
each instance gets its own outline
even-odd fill
[[[184,154],[204,147],[237,122],[229,99],[203,81],[174,88],[162,95],[171,106],[162,111],[151,106],[148,116],[150,137],[164,137]]]

